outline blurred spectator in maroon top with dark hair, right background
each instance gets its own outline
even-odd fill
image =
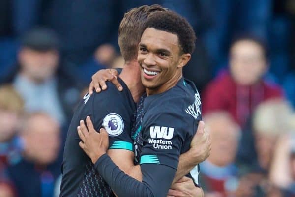
[[[233,41],[229,71],[211,81],[203,93],[203,113],[223,110],[244,127],[256,106],[270,98],[282,98],[282,89],[264,80],[267,72],[266,46],[257,37],[242,36]]]

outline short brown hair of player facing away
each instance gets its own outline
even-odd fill
[[[119,26],[118,44],[125,61],[137,59],[138,44],[149,16],[158,11],[167,11],[161,5],[143,5],[124,14]]]

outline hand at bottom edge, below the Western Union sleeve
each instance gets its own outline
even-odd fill
[[[167,197],[204,197],[204,192],[191,178],[184,176],[171,186]]]

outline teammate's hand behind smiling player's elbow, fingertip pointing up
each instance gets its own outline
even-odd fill
[[[195,161],[195,165],[206,160],[211,152],[211,140],[209,133],[205,130],[204,121],[200,121],[197,132],[192,139],[190,149],[188,151],[192,160]]]

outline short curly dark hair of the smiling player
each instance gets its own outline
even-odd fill
[[[155,28],[176,34],[182,53],[192,54],[195,50],[196,35],[188,21],[173,11],[157,12],[152,15],[146,25],[146,28]]]

